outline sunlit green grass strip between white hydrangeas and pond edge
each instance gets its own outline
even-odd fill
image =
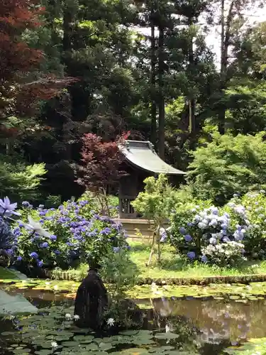
[[[202,263],[189,263],[177,254],[169,245],[162,248],[162,260],[157,264],[156,254],[147,266],[150,245],[143,242],[131,242],[131,260],[138,266],[140,278],[200,278],[208,276],[236,276],[245,274],[265,274],[265,261],[247,261],[242,266],[220,268]]]

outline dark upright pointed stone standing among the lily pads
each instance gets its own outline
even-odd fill
[[[74,315],[79,316],[79,320],[75,322],[77,327],[98,330],[103,326],[108,295],[98,269],[99,266],[90,266],[87,277],[77,290],[74,303]]]

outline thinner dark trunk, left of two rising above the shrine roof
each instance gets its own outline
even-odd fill
[[[155,23],[153,19],[152,9],[150,27],[150,94],[151,94],[151,108],[150,108],[150,141],[156,147],[157,143],[157,109],[156,109],[156,57],[155,57]]]

